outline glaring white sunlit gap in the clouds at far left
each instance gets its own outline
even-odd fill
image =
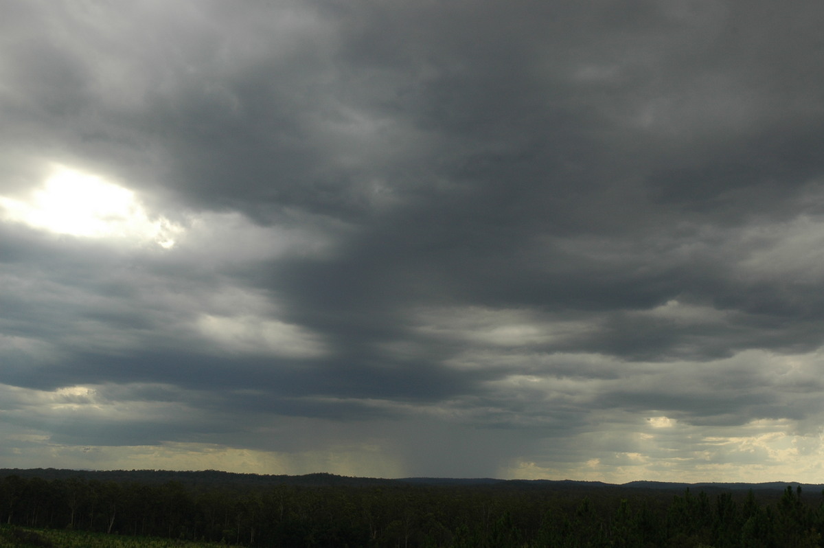
[[[64,166],[54,168],[28,199],[0,196],[7,221],[77,237],[154,241],[166,249],[180,232],[165,218],[152,219],[131,190]]]

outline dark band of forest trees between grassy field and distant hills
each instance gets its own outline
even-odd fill
[[[528,548],[821,546],[821,496],[689,489],[561,492],[512,485],[197,488],[0,479],[0,519],[26,527],[245,546]]]

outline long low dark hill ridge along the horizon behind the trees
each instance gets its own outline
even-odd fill
[[[581,481],[581,480],[499,480],[495,478],[433,478],[433,477],[411,477],[399,479],[351,477],[346,475],[328,474],[319,472],[305,475],[261,475],[261,474],[238,474],[235,472],[224,472],[217,470],[204,471],[168,471],[168,470],[112,470],[112,471],[91,471],[91,470],[65,470],[56,468],[2,468],[0,477],[7,475],[19,475],[21,477],[40,477],[44,480],[65,480],[68,478],[85,478],[87,480],[115,481],[115,482],[138,482],[150,484],[163,484],[168,481],[179,481],[190,486],[226,486],[226,487],[247,487],[247,486],[274,486],[274,485],[298,485],[306,487],[322,486],[352,486],[352,487],[380,487],[380,486],[404,486],[404,485],[442,485],[442,486],[490,486],[513,489],[557,489],[557,490],[580,490],[580,489],[639,489],[656,491],[676,491],[684,489],[695,491],[783,491],[788,485],[801,486],[807,493],[821,493],[824,490],[822,484],[799,484],[795,481],[770,481],[765,483],[723,483],[723,482],[700,482],[683,483],[667,481],[630,481],[625,484],[608,484],[602,481]]]

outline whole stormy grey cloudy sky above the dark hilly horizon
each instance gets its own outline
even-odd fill
[[[824,482],[824,5],[2,0],[0,467]]]

